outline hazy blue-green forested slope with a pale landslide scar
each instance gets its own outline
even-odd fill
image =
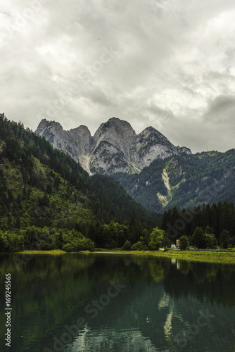
[[[139,175],[118,173],[112,177],[135,201],[152,211],[235,202],[235,150],[184,153],[155,160]]]

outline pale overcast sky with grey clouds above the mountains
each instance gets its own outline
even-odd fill
[[[234,0],[1,0],[1,112],[235,148]]]

